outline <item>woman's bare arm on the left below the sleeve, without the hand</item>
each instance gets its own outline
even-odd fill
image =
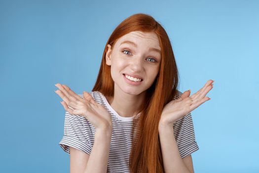
[[[96,131],[90,155],[71,150],[71,173],[107,173],[110,145],[111,130]]]

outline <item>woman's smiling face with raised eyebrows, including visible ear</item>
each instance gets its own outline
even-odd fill
[[[114,90],[137,95],[151,87],[160,68],[160,51],[154,32],[128,33],[117,40],[112,50],[108,44],[106,64],[111,65]]]

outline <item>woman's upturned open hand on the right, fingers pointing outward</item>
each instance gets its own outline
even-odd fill
[[[190,95],[190,90],[185,91],[179,99],[172,100],[164,106],[159,124],[172,125],[177,120],[199,107],[202,103],[210,100],[206,94],[213,88],[213,80],[209,80],[195,94]]]

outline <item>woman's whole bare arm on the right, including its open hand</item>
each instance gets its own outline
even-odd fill
[[[204,87],[191,96],[189,96],[190,90],[185,91],[180,98],[172,100],[164,106],[159,120],[158,132],[165,172],[191,173],[188,170],[189,167],[185,166],[187,159],[184,162],[181,158],[172,126],[176,121],[210,100],[206,94],[213,88],[213,82],[213,80],[207,81]]]

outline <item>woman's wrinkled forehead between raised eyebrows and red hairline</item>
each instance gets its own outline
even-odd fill
[[[148,45],[160,49],[158,36],[154,32],[133,31],[117,40],[117,44],[130,41],[136,43],[137,46]]]

